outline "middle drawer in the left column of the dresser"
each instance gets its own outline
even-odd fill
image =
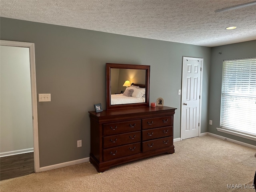
[[[140,142],[140,131],[103,137],[103,148]]]

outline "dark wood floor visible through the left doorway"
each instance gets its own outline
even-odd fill
[[[34,153],[0,158],[0,180],[34,173]]]

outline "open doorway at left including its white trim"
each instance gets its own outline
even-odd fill
[[[25,170],[24,172],[29,172],[29,173],[31,171],[39,172],[39,148],[38,148],[38,120],[37,120],[36,70],[35,70],[34,43],[0,40],[0,46],[1,46],[1,66],[0,66],[1,67],[1,152],[0,152],[0,156],[1,156],[1,180],[2,180],[2,169],[5,170],[6,175],[8,175],[8,170],[12,169],[12,167],[3,168],[2,166],[4,166],[4,162],[6,163],[7,166],[14,166],[14,167],[18,165],[20,162],[24,162],[25,163],[24,168],[26,168],[26,163],[30,162],[31,164],[31,161],[32,161],[33,167],[31,168],[30,166],[29,170]],[[6,53],[8,53],[9,56],[4,57]],[[11,61],[10,58],[12,59],[16,58],[17,60]],[[27,62],[24,62],[24,63],[20,62],[23,59],[26,60]],[[4,62],[6,62],[6,64],[4,64]],[[12,74],[12,77],[10,77],[11,74]],[[5,82],[6,79],[3,79],[4,77],[8,79],[8,82]],[[20,78],[23,78],[22,82],[20,82],[21,81]],[[24,83],[23,80],[26,83]],[[4,88],[4,86],[6,89]],[[26,90],[26,91],[24,92],[24,94],[22,94],[21,91],[19,91],[18,89]],[[2,97],[2,95],[4,95],[4,97]],[[2,114],[9,115],[9,116],[2,116]],[[24,114],[26,114],[26,116],[24,116]],[[26,120],[24,120],[23,118],[26,118]],[[25,131],[19,130],[19,128],[21,129],[22,127],[27,128],[27,130]],[[26,138],[25,132],[28,132],[28,134],[30,134],[31,137]],[[16,141],[19,139],[19,137],[26,138],[26,140],[24,140],[22,143],[17,143]],[[24,158],[26,160],[24,160]],[[14,165],[14,163],[12,163],[12,165],[10,165],[8,164],[8,162],[16,162],[17,164]],[[10,174],[9,177],[12,178],[15,176],[16,176],[15,174]],[[21,175],[18,175],[18,176],[21,176]]]

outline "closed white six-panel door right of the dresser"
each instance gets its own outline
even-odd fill
[[[199,136],[202,58],[183,58],[181,139]]]

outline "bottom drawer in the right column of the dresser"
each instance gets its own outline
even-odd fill
[[[164,137],[142,142],[142,152],[165,148],[173,145],[173,137]]]

